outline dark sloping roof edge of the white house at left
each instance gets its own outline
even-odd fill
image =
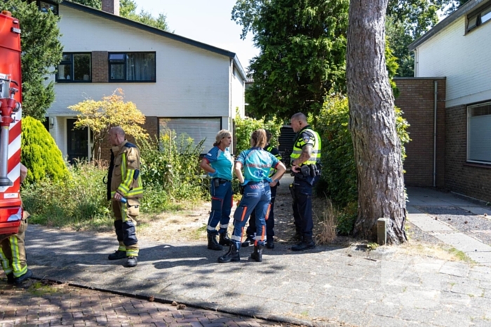
[[[67,6],[69,8],[74,8],[74,9],[79,10],[79,11],[85,11],[86,13],[90,13],[92,15],[106,18],[106,19],[112,20],[114,22],[119,22],[119,23],[124,24],[124,25],[135,27],[137,29],[142,29],[146,32],[150,32],[150,33],[154,33],[154,34],[157,34],[160,36],[164,36],[164,37],[167,37],[167,38],[172,39],[174,41],[180,41],[182,43],[189,44],[189,46],[196,46],[197,48],[208,50],[208,51],[211,51],[212,53],[217,53],[219,55],[227,56],[227,57],[234,60],[236,66],[238,67],[238,70],[241,72],[241,75],[243,75],[242,77],[244,79],[246,79],[244,70],[242,68],[241,62],[238,61],[237,55],[235,53],[232,53],[229,50],[220,49],[220,48],[217,48],[215,46],[210,46],[209,44],[206,44],[206,43],[201,43],[199,41],[187,39],[184,36],[179,36],[179,35],[174,34],[174,33],[166,32],[166,31],[163,31],[162,29],[157,29],[156,27],[144,25],[140,22],[135,22],[134,20],[128,20],[128,18],[123,18],[123,17],[118,16],[118,15],[113,15],[112,13],[106,13],[105,11],[100,11],[100,10],[92,8],[92,7],[83,6],[83,5],[77,4],[75,2],[63,1],[61,3],[61,5]]]

